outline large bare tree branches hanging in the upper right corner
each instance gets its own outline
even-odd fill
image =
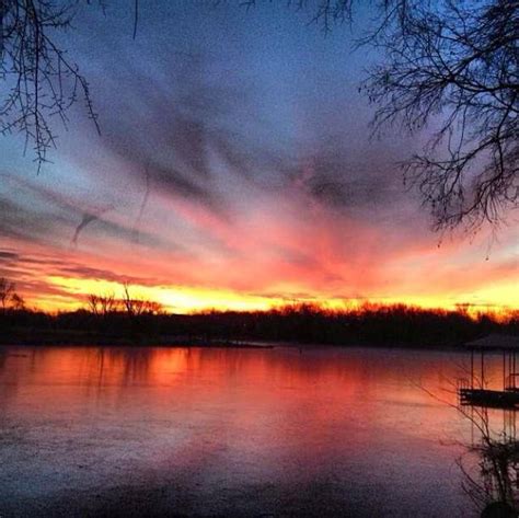
[[[519,2],[406,4],[371,39],[387,54],[366,83],[376,124],[436,127],[404,170],[437,229],[497,223],[519,205]]]

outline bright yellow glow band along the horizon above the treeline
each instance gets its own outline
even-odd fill
[[[113,293],[123,298],[124,287],[113,280],[100,278],[78,278],[48,276],[46,283],[59,290],[60,295],[27,297],[30,306],[37,309],[57,312],[78,310],[86,307],[91,293]],[[471,313],[493,312],[506,313],[519,308],[519,300],[512,286],[493,286],[475,291],[472,302],[468,297],[452,296],[405,296],[405,297],[369,297],[337,298],[326,295],[296,296],[287,291],[284,297],[240,292],[223,288],[204,288],[193,286],[145,286],[131,285],[130,295],[159,302],[166,312],[195,313],[199,311],[268,311],[290,303],[311,303],[331,310],[355,310],[369,304],[394,306],[406,304],[423,309],[457,310],[465,308]],[[486,302],[478,302],[485,300]],[[498,302],[498,301],[505,301]]]

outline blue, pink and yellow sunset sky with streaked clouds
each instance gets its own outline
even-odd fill
[[[285,2],[79,12],[59,42],[89,79],[37,172],[0,138],[0,277],[67,310],[123,283],[174,312],[364,301],[519,307],[519,232],[439,234],[399,162],[427,130],[372,137],[356,49],[372,13],[323,34]]]

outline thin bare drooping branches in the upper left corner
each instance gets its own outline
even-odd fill
[[[56,42],[70,27],[80,0],[0,0],[0,133],[22,133],[38,171],[56,137],[50,119],[67,125],[67,113],[82,96],[97,131],[89,83]],[[86,2],[89,3],[89,2]]]

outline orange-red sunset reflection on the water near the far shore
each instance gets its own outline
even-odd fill
[[[95,392],[124,398],[128,391],[148,388],[153,393],[151,405],[173,394],[185,403],[221,396],[241,405],[233,415],[238,421],[270,407],[287,416],[304,410],[322,423],[344,418],[351,408],[361,412],[362,421],[387,419],[391,405],[406,405],[406,414],[417,417],[426,412],[435,421],[434,414],[443,413],[445,405],[427,391],[453,403],[455,377],[462,373],[460,364],[468,360],[451,360],[445,353],[373,349],[182,347],[13,348],[2,358],[1,379],[11,387],[39,387],[32,395],[43,410],[53,404],[48,392],[58,395],[60,387],[68,387],[66,395],[71,400]],[[497,367],[489,370],[489,378],[498,378]],[[15,392],[11,398],[16,398]],[[10,404],[10,398],[4,403]]]

